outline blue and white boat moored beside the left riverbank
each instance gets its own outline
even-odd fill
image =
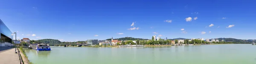
[[[36,51],[51,51],[48,44],[33,44],[31,47]]]

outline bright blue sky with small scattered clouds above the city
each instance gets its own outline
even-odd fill
[[[127,36],[151,39],[153,35],[162,38],[256,39],[255,2],[3,0],[0,2],[0,19],[12,32],[17,32],[18,39],[50,38],[72,42]]]

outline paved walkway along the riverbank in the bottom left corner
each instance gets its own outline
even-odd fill
[[[15,48],[0,52],[0,64],[20,64],[18,53]]]

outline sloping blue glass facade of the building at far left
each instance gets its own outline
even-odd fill
[[[0,19],[0,42],[8,42],[12,43],[13,40],[13,34],[11,30],[3,23],[3,21]]]

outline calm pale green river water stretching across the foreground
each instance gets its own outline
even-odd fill
[[[33,64],[256,64],[256,45],[251,44],[51,49],[25,51]]]

